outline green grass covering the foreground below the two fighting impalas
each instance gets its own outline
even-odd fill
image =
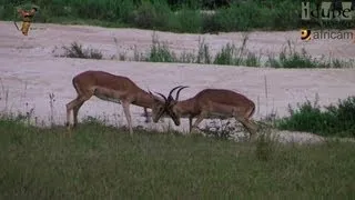
[[[2,119],[0,199],[354,199],[354,144],[264,143]]]

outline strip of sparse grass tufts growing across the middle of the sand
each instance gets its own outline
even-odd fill
[[[272,68],[353,68],[353,59],[337,58],[313,58],[305,49],[296,51],[295,46],[287,41],[278,54],[268,54],[262,60],[261,54],[247,50],[247,34],[244,36],[240,47],[233,43],[226,43],[214,56],[210,51],[210,46],[204,41],[199,41],[196,52],[183,51],[176,53],[171,50],[166,42],[159,41],[153,34],[152,44],[148,52],[140,52],[134,48],[133,58],[128,58],[124,53],[103,56],[101,50],[87,48],[78,42],[70,46],[62,46],[61,53],[53,50],[55,57],[84,58],[84,59],[118,59],[121,61],[145,61],[145,62],[180,62],[180,63],[202,63],[202,64],[221,64],[221,66],[247,66],[247,67],[272,67]],[[116,42],[116,40],[114,40]],[[116,43],[118,47],[118,43]],[[118,51],[120,49],[118,48]]]

